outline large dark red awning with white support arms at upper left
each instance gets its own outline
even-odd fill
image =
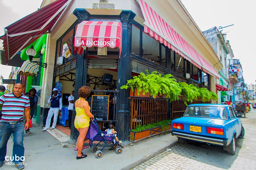
[[[71,0],[56,0],[4,28],[5,60],[12,59],[19,51],[50,31]]]

